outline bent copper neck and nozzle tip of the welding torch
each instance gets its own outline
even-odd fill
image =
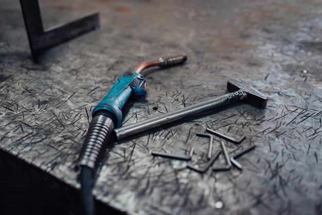
[[[146,63],[141,63],[134,68],[136,73],[141,73],[146,68],[152,66],[171,66],[175,64],[184,63],[187,60],[187,56],[185,55],[177,55],[177,56],[167,56],[161,57],[154,61],[149,61]]]

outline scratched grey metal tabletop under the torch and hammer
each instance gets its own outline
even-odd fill
[[[229,79],[259,89],[260,110],[241,102],[115,142],[94,187],[99,211],[129,214],[322,214],[322,3],[288,1],[41,1],[46,27],[100,12],[101,27],[33,63],[19,2],[0,7],[0,152],[44,198],[79,213],[75,164],[91,112],[116,79],[165,54],[188,61],[150,69],[145,98],[124,108],[122,125],[226,93]],[[238,137],[228,152],[240,171],[201,174],[206,128]],[[213,153],[220,149],[214,137]],[[188,154],[183,162],[151,151]],[[224,164],[220,155],[213,167]],[[46,192],[46,193],[45,193]],[[223,208],[216,208],[221,201]],[[115,212],[115,211],[114,211]]]

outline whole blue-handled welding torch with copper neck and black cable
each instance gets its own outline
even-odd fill
[[[124,73],[113,85],[110,92],[100,101],[92,112],[92,121],[86,134],[77,163],[80,174],[82,202],[86,215],[94,215],[92,187],[99,161],[102,158],[114,128],[122,121],[122,108],[134,96],[146,95],[146,79],[140,74],[153,66],[171,66],[187,60],[184,55],[161,57],[154,61],[141,63],[134,70]]]

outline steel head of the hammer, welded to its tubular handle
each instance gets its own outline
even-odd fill
[[[257,108],[266,108],[267,97],[260,93],[257,89],[252,86],[249,86],[245,82],[239,79],[231,79],[227,83],[227,90],[229,92],[243,91],[247,94],[247,102],[257,106]]]

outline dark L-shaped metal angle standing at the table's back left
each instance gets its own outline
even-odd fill
[[[34,60],[43,51],[99,28],[99,15],[94,13],[81,19],[44,30],[38,0],[20,0],[31,55]]]

